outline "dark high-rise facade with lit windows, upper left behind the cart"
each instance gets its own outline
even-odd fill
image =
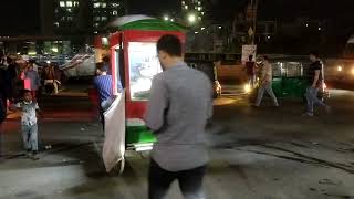
[[[91,35],[122,15],[124,0],[41,0],[43,35]]]

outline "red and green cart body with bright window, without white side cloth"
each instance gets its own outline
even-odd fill
[[[156,140],[144,123],[153,77],[162,72],[156,42],[174,34],[185,43],[184,28],[143,15],[123,17],[111,23],[117,28],[108,36],[114,95],[122,83],[125,95],[125,148],[150,150]],[[105,40],[105,39],[103,39]]]

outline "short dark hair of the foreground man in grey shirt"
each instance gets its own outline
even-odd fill
[[[181,56],[181,42],[175,35],[163,35],[157,42],[157,51],[165,51],[171,56]]]

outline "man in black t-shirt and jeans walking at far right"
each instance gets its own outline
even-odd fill
[[[319,90],[323,84],[323,63],[319,57],[319,53],[313,51],[310,53],[311,65],[308,71],[309,86],[306,88],[306,113],[304,115],[313,116],[313,107],[315,104],[325,107],[326,112],[331,111],[331,107],[319,100]]]

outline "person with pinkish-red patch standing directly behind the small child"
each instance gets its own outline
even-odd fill
[[[29,64],[21,73],[21,80],[23,80],[24,90],[30,91],[33,101],[37,102],[37,91],[41,86],[41,80],[39,74],[33,70],[33,64]]]

